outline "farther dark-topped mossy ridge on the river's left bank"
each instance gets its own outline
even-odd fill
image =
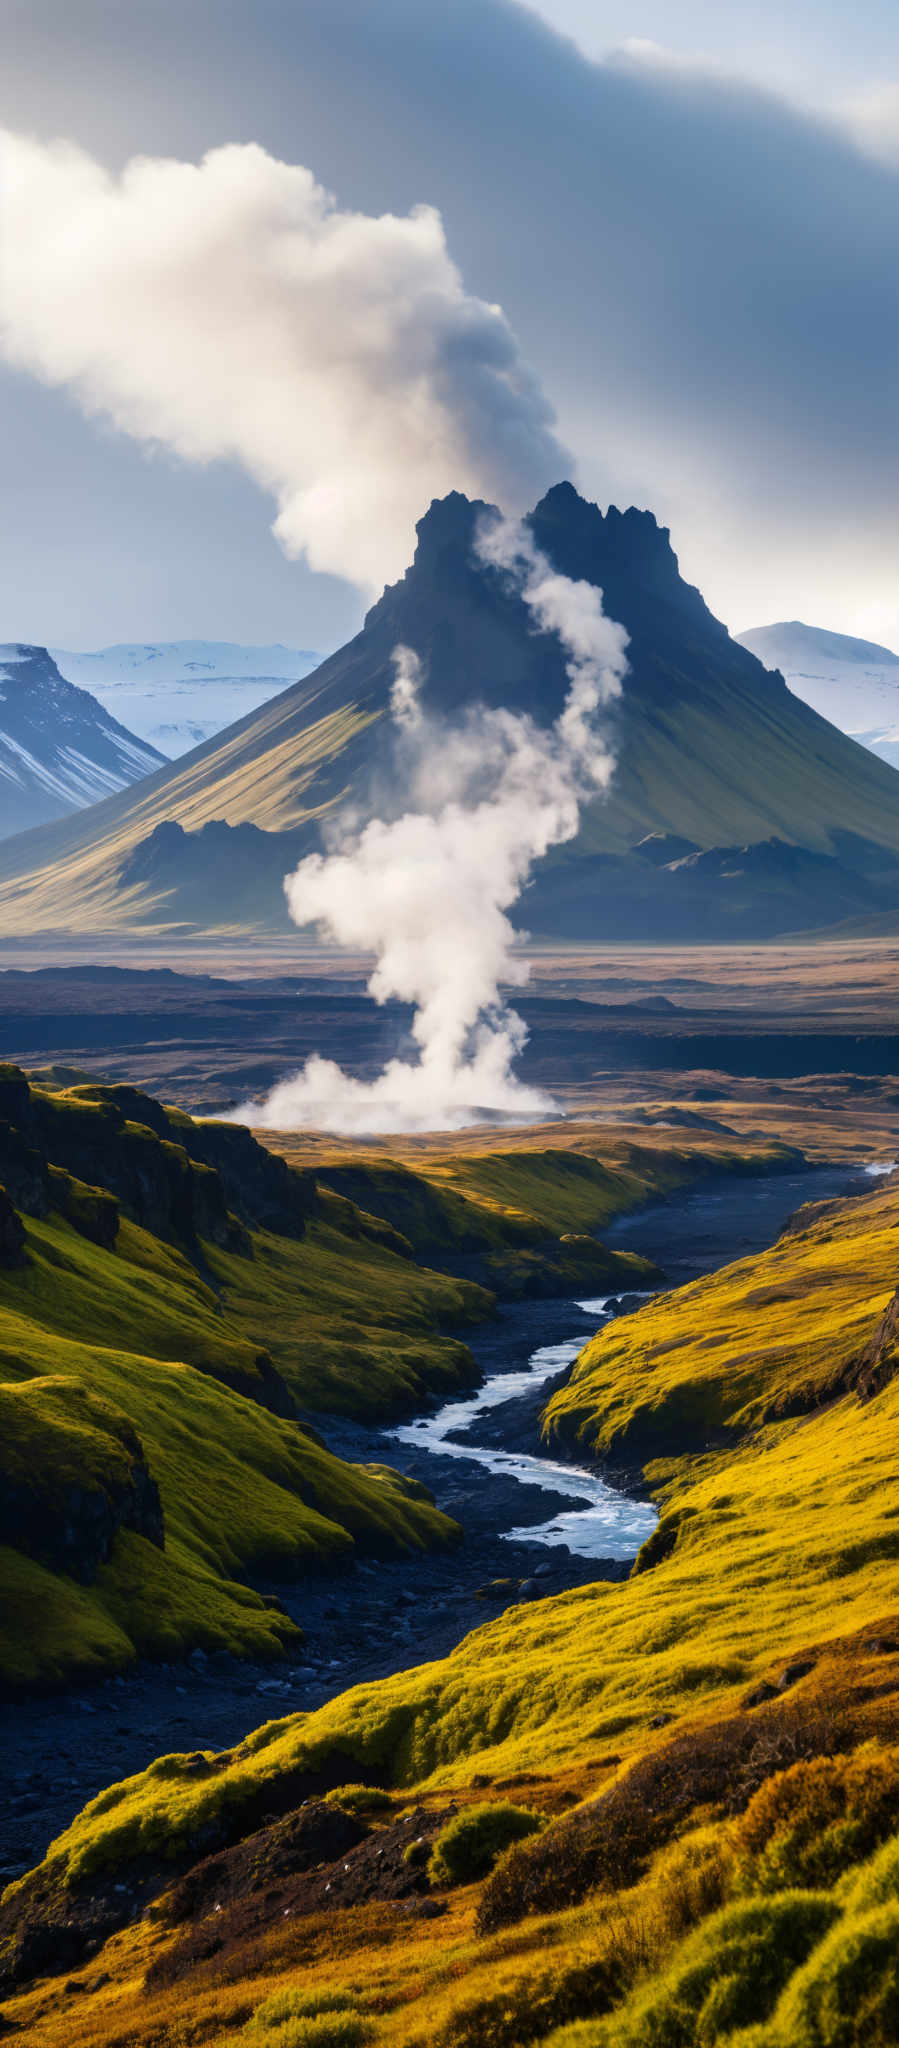
[[[489,1315],[491,1296],[428,1272],[389,1223],[319,1192],[242,1126],[0,1067],[0,1186],[33,1239],[72,1227],[25,1260],[14,1229],[0,1257],[0,1307],[23,1305],[47,1331],[125,1348],[139,1331],[141,1350],[287,1417],[295,1403],[395,1417],[475,1380],[446,1331]],[[78,1255],[76,1235],[115,1266]],[[0,1321],[0,1372],[2,1346]]]

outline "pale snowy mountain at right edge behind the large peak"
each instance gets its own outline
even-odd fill
[[[899,653],[801,618],[754,627],[739,643],[778,668],[803,705],[899,768]]]

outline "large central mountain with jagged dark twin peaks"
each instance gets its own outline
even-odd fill
[[[0,850],[2,928],[283,930],[281,874],[322,821],[348,795],[389,801],[397,641],[422,655],[424,698],[442,713],[481,698],[551,721],[563,649],[475,559],[481,512],[459,494],[434,502],[405,575],[313,674],[90,819]],[[541,864],[526,928],[766,938],[899,915],[895,770],[729,637],[651,512],[602,514],[559,483],[530,528],[557,569],[604,590],[631,670],[610,795]]]

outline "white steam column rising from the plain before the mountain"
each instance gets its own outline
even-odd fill
[[[397,766],[416,809],[371,819],[334,852],[301,860],[285,891],[295,924],[375,950],[369,993],[414,1004],[414,1057],[391,1059],[375,1081],[313,1057],[264,1102],[233,1110],[240,1122],[360,1135],[553,1110],[514,1075],[526,1026],[502,987],[522,985],[528,967],[508,911],[534,862],[575,836],[584,799],[608,784],[602,711],[620,692],[627,633],[604,616],[602,592],[557,575],[518,522],[487,522],[479,555],[514,584],[534,629],[559,635],[569,657],[563,711],[545,729],[475,705],[448,725],[422,707],[416,653],[395,649]]]

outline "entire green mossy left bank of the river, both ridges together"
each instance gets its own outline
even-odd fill
[[[16,1116],[0,1120],[0,1165],[20,1202],[0,1262],[0,1683],[14,1690],[195,1645],[279,1653],[297,1630],[254,1575],[455,1538],[424,1489],[332,1456],[297,1403],[379,1417],[471,1384],[471,1354],[440,1325],[491,1296],[307,1186],[285,1196],[289,1235],[250,1231],[219,1165],[152,1128],[227,1151],[227,1126],[149,1098],[137,1126],[133,1092],[111,1094],[0,1075]],[[109,1155],[117,1192],[49,1157],[72,1159],[72,1133],[94,1124],[90,1165]],[[236,1135],[256,1208],[301,1182]],[[162,1235],[135,1221],[141,1204]],[[197,1235],[215,1217],[221,1231]]]

